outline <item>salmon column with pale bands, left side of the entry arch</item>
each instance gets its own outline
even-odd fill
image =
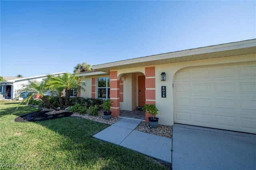
[[[112,116],[120,115],[120,82],[117,79],[117,71],[110,71],[110,111]]]

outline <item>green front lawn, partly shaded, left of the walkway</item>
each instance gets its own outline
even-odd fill
[[[92,138],[107,125],[65,117],[16,123],[37,108],[0,101],[0,169],[168,169],[132,150]]]

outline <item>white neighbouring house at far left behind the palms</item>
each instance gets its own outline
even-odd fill
[[[63,73],[65,72],[53,73],[51,75],[58,76],[62,75]],[[0,93],[5,99],[15,99],[18,97],[18,90],[22,88],[23,84],[27,84],[29,80],[36,80],[41,82],[47,78],[46,76],[47,75],[38,75],[26,78],[3,76],[5,81],[0,82]]]

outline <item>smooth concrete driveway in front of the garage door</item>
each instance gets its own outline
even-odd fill
[[[256,170],[256,134],[175,124],[173,170]]]

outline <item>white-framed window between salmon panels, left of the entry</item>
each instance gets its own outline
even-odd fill
[[[101,99],[110,99],[110,77],[97,79],[97,95]]]

